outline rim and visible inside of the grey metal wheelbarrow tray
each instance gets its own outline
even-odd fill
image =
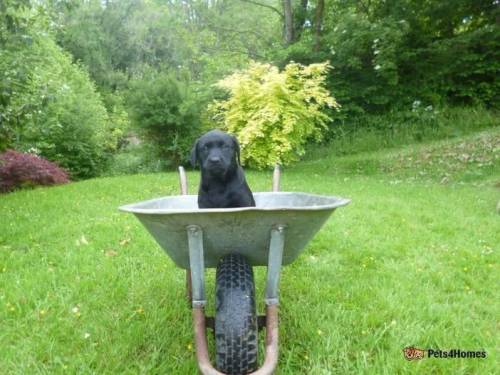
[[[302,192],[259,192],[253,193],[256,201],[256,207],[237,207],[237,208],[203,208],[197,207],[197,195],[170,195],[146,201],[127,204],[119,207],[119,210],[131,213],[147,213],[147,214],[178,214],[178,213],[210,213],[210,212],[239,212],[239,211],[276,211],[276,210],[296,210],[296,211],[318,211],[342,207],[351,202],[350,199],[336,197],[332,195],[318,195]],[[291,204],[278,204],[259,206],[259,203],[266,203],[266,198],[277,197],[299,198],[290,199]],[[314,201],[314,204],[294,205],[297,200],[302,199],[303,202]],[[177,201],[185,202],[187,208],[168,207],[168,203]],[[267,201],[269,202],[269,201]],[[162,203],[167,207],[158,208]]]

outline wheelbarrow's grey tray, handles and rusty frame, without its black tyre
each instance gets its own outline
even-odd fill
[[[183,195],[129,204],[120,210],[133,213],[175,264],[187,270],[196,356],[203,374],[223,374],[212,366],[208,355],[206,326],[213,328],[214,318],[205,317],[204,313],[204,269],[217,267],[229,254],[241,255],[250,269],[267,266],[266,315],[250,317],[260,323],[259,328],[266,327],[266,357],[262,367],[252,374],[272,374],[278,362],[281,266],[293,262],[333,211],[350,201],[333,196],[278,192],[280,173],[275,169],[273,192],[254,193],[256,207],[199,209],[197,196],[185,195],[185,174],[182,167],[179,170]],[[216,311],[216,322],[217,314]],[[240,319],[236,321],[238,325],[249,317],[222,316],[219,321],[221,319]],[[238,344],[232,349],[245,351]]]

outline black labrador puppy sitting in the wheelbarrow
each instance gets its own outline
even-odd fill
[[[240,166],[240,145],[236,137],[220,130],[205,133],[193,146],[191,164],[201,167],[199,208],[255,206]]]

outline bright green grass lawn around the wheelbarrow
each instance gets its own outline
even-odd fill
[[[497,373],[500,129],[332,154],[282,177],[282,190],[352,203],[283,269],[278,373]],[[271,172],[247,175],[270,189]],[[193,190],[198,173],[188,178]],[[1,373],[196,373],[184,272],[117,210],[177,191],[166,173],[0,196]],[[487,358],[408,362],[410,345]]]

